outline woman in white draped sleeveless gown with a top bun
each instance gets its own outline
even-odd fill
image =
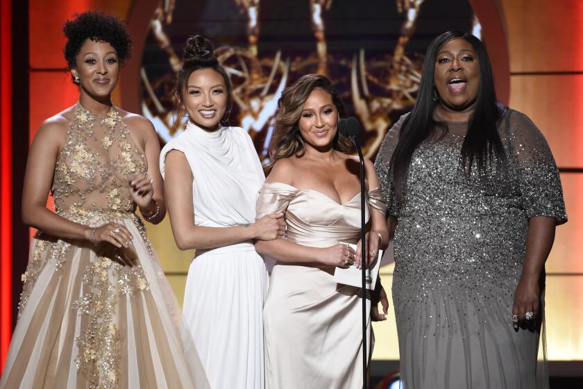
[[[268,282],[253,240],[284,235],[282,215],[255,222],[263,169],[248,133],[221,124],[231,84],[200,35],[186,42],[176,95],[188,122],[162,149],[160,171],[176,244],[196,249],[184,315],[212,388],[263,388]]]

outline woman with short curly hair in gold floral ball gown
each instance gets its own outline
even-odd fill
[[[79,101],[40,126],[28,154],[22,217],[38,233],[0,387],[207,387],[142,221],[166,212],[158,137],[111,102],[130,35],[96,11],[64,32]]]

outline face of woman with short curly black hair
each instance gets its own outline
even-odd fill
[[[71,74],[79,78],[82,93],[94,99],[109,99],[119,78],[117,51],[108,42],[87,39],[76,56]]]

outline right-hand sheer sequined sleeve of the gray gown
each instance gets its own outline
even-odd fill
[[[509,113],[512,139],[511,163],[518,170],[521,204],[528,217],[555,217],[567,221],[559,170],[548,143],[532,120],[516,111]]]

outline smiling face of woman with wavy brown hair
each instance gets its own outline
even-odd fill
[[[332,147],[338,131],[338,110],[328,92],[312,90],[302,107],[298,127],[305,144],[315,149]]]

